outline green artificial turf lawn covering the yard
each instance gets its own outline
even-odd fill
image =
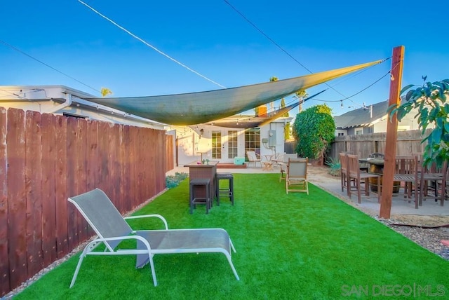
[[[411,294],[417,299],[435,299],[449,295],[449,261],[312,184],[309,195],[286,195],[285,182],[278,179],[276,174],[234,174],[235,205],[222,198],[209,214],[203,205],[189,214],[186,179],[136,212],[161,214],[171,229],[226,229],[236,247],[232,260],[239,281],[222,254],[156,255],[157,287],[149,266],[135,269],[134,257],[87,257],[69,289],[76,254],[16,299],[392,299],[394,293],[396,299],[410,292],[418,292]],[[134,229],[157,226],[154,221],[130,222]]]

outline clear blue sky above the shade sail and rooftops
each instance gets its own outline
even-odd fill
[[[428,81],[449,78],[449,39],[445,34],[449,20],[436,6],[417,1],[85,2],[227,88],[269,81],[272,76],[287,79],[380,60],[401,45],[406,48],[403,86],[421,84],[424,75]],[[95,96],[102,87],[112,90],[114,97],[220,88],[77,0],[2,1],[0,66],[0,86],[65,85]],[[387,100],[389,76],[381,78],[390,68],[388,60],[360,74],[330,81],[335,90],[328,89],[303,108],[326,103],[333,114],[340,115],[363,103],[368,106]],[[340,101],[379,79],[362,93]],[[326,88],[316,86],[307,93]],[[293,101],[286,97],[288,104]],[[290,113],[295,114],[297,109]]]

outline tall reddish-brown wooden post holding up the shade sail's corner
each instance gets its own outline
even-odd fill
[[[391,82],[388,106],[401,104],[402,69],[405,48],[393,48],[391,60]],[[394,160],[396,158],[396,142],[398,138],[398,119],[396,114],[387,122],[387,139],[385,141],[385,163],[382,179],[382,200],[380,202],[379,217],[389,219],[391,214],[391,196],[393,195]]]

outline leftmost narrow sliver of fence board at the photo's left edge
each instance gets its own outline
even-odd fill
[[[8,187],[6,184],[6,109],[0,107],[0,296],[11,290],[8,259]]]

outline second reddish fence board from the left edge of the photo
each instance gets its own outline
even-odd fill
[[[26,191],[25,191],[25,112],[8,109],[8,247],[11,288],[27,279]]]

